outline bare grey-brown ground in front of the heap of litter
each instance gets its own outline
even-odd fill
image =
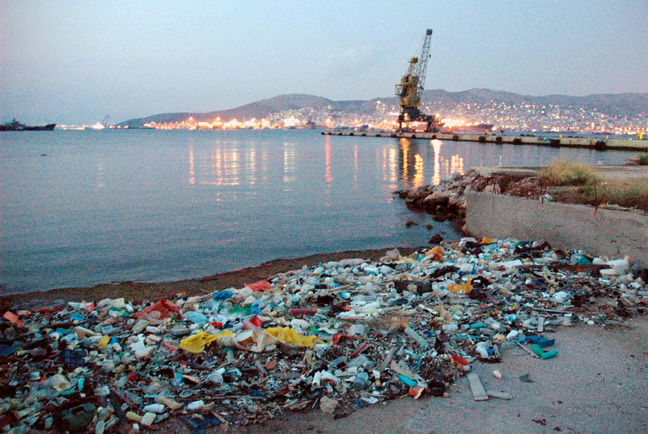
[[[531,358],[520,349],[505,350],[502,363],[475,364],[473,372],[486,390],[510,392],[510,401],[476,402],[466,377],[449,390],[449,398],[405,397],[368,406],[343,419],[314,410],[290,414],[262,425],[230,429],[268,433],[646,433],[648,432],[648,318],[627,327],[561,328],[555,338],[560,354]],[[498,380],[494,369],[503,374]],[[529,374],[533,383],[520,380]],[[161,432],[190,433],[178,421]],[[207,433],[225,432],[221,427]]]

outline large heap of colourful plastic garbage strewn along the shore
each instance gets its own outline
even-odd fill
[[[0,427],[129,433],[174,417],[199,432],[448,396],[477,360],[550,359],[543,334],[558,326],[643,313],[646,280],[628,258],[464,238],[202,296],[14,309],[0,320]]]

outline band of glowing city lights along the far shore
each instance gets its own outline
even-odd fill
[[[517,104],[490,100],[486,103],[448,103],[427,101],[424,109],[441,119],[441,130],[454,131],[526,131],[563,134],[618,134],[648,133],[648,117],[644,113],[620,116],[602,113],[596,109],[558,104]],[[364,112],[363,110],[367,110]],[[354,131],[395,131],[398,128],[399,108],[396,103],[379,100],[372,109],[327,105],[278,111],[261,119],[200,119],[189,116],[174,122],[148,122],[149,129],[313,129],[326,128]],[[414,129],[425,125],[412,123]]]

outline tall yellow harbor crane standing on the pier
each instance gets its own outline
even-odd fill
[[[398,131],[411,131],[410,122],[425,122],[426,132],[438,131],[439,118],[434,115],[426,115],[419,110],[421,97],[423,96],[427,62],[430,58],[431,40],[432,29],[427,29],[421,54],[410,59],[407,72],[401,78],[401,82],[396,85],[396,96],[401,107],[398,116]]]

